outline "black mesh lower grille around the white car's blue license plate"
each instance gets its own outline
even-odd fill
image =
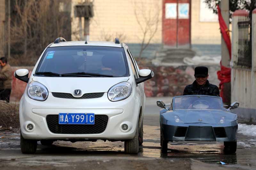
[[[94,124],[59,124],[59,115],[47,115],[49,130],[56,134],[98,134],[104,132],[108,124],[107,115],[95,115]]]

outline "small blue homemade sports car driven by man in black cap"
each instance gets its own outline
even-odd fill
[[[173,97],[170,107],[158,100],[162,152],[172,141],[224,142],[224,152],[236,152],[237,115],[230,112],[238,102],[226,109],[222,98],[205,95]]]

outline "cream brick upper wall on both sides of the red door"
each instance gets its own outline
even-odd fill
[[[76,34],[78,28],[78,18],[74,18],[74,5],[81,0],[72,0],[72,41],[77,40]],[[104,35],[112,35],[114,37],[118,33],[125,35],[124,42],[126,43],[140,43],[142,32],[134,15],[133,4],[143,2],[144,9],[152,7],[153,0],[134,0],[134,1],[116,1],[116,0],[95,0],[94,1],[94,17],[90,24],[90,40],[102,41]],[[159,2],[160,17],[162,16],[162,1]],[[139,8],[139,7],[137,7]],[[139,16],[142,19],[142,16]],[[82,19],[82,25],[83,19]],[[142,26],[145,26],[142,23]],[[173,25],[175,26],[175,25]],[[220,44],[220,30],[218,22],[200,22],[200,0],[191,1],[191,44]],[[162,43],[162,18],[158,24],[158,30],[151,43]]]

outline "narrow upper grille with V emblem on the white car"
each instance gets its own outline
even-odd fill
[[[102,93],[85,93],[81,97],[73,97],[72,94],[70,94],[70,93],[56,93],[56,92],[52,92],[52,95],[54,97],[65,98],[65,99],[92,99],[92,98],[102,97],[103,94],[104,94],[104,92],[102,92]]]

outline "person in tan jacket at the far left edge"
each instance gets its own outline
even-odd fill
[[[0,58],[0,65],[0,100],[6,100],[9,103],[12,90],[12,69],[6,57]]]

